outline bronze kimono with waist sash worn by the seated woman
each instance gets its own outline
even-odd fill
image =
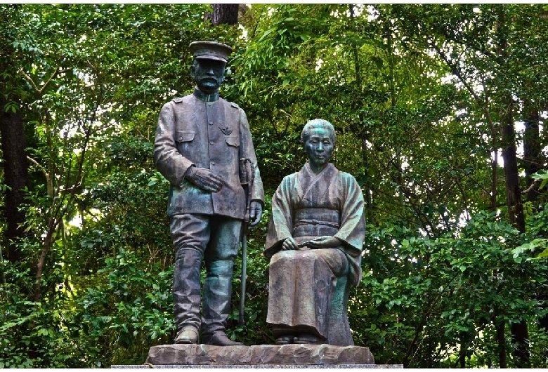
[[[337,248],[306,249],[306,241],[331,236]],[[298,251],[282,251],[293,237]],[[331,163],[318,175],[305,164],[287,175],[272,198],[264,254],[270,258],[268,314],[274,336],[288,329],[327,339],[332,292],[337,278],[361,280],[365,239],[363,194],[352,175]],[[277,334],[278,333],[278,334]]]

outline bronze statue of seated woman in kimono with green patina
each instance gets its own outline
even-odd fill
[[[325,120],[301,135],[308,163],[272,199],[267,322],[276,343],[353,345],[346,305],[361,279],[364,201],[352,175],[329,162],[336,135]]]

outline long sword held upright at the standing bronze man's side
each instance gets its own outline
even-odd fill
[[[249,173],[251,173],[251,180],[249,180],[247,173],[247,163],[249,163]],[[242,284],[240,286],[240,314],[238,318],[238,324],[243,326],[244,321],[244,305],[245,305],[245,281],[247,279],[247,233],[249,232],[249,209],[251,208],[252,186],[255,180],[255,166],[251,159],[240,159],[240,182],[242,186],[246,188],[246,203],[245,203],[245,215],[244,223],[242,224]]]

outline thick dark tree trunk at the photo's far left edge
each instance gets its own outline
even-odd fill
[[[0,66],[0,72],[3,72],[6,66]],[[6,86],[6,81],[1,80],[1,85]],[[4,93],[4,92],[0,92]],[[14,98],[11,98],[15,101]],[[8,241],[7,258],[12,263],[18,262],[22,258],[17,241],[25,234],[22,223],[25,222],[25,213],[20,211],[19,207],[25,201],[23,189],[29,184],[27,154],[25,152],[25,131],[22,122],[22,116],[19,108],[13,112],[11,107],[5,109],[9,102],[0,95],[0,135],[1,146],[4,158],[4,175],[6,178],[5,192],[6,201],[6,220],[8,230],[6,240]]]

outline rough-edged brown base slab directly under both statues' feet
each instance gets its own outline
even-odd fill
[[[334,345],[160,345],[150,347],[145,364],[156,366],[268,366],[375,364],[367,347]]]

